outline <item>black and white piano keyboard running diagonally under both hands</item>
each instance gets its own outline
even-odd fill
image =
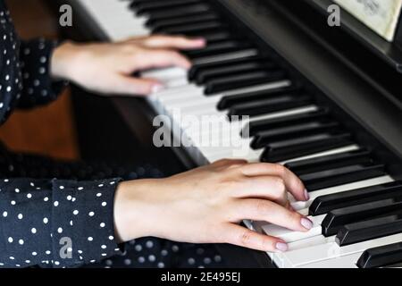
[[[268,254],[277,266],[369,268],[402,262],[402,182],[394,181],[387,165],[358,144],[328,107],[295,84],[274,57],[231,29],[213,4],[206,0],[77,2],[112,41],[153,33],[207,39],[205,49],[185,52],[194,63],[189,72],[179,68],[143,72],[167,87],[149,103],[157,114],[169,116],[172,130],[180,130],[177,138],[184,136],[193,143],[187,151],[197,164],[236,157],[276,162],[305,182],[310,200],[289,199],[314,222],[311,231],[245,222],[250,229],[289,243],[288,252]],[[236,156],[230,147],[203,147],[200,131],[182,128],[174,114],[177,110],[196,118],[249,115],[243,122],[221,122],[222,130],[235,132],[230,138],[234,143],[247,146],[247,155]],[[220,135],[220,130],[209,134],[215,142],[221,142]]]

